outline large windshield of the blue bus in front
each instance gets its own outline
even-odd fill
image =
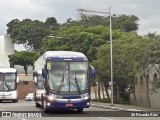
[[[88,89],[87,62],[48,61],[48,82],[57,92],[81,92]]]

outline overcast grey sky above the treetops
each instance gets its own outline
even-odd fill
[[[109,6],[114,14],[136,15],[139,34],[160,34],[160,0],[0,0],[0,35],[6,34],[6,24],[16,18],[45,21],[55,17],[63,23],[76,19],[79,8],[108,11]]]

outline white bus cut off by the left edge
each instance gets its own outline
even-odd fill
[[[17,85],[19,78],[15,68],[0,68],[0,102],[18,102]]]

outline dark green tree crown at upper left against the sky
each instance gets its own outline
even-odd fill
[[[14,20],[7,24],[7,32],[13,42],[23,44],[27,50],[38,51],[42,47],[42,40],[50,33],[47,27],[38,20],[17,21]]]

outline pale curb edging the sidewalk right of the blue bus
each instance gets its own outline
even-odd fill
[[[97,104],[91,104],[91,106],[98,107],[98,108],[104,108],[104,109],[111,109],[111,110],[120,110],[120,111],[142,111],[142,110],[138,110],[138,109],[128,109],[128,108],[106,106],[106,105],[97,105]]]

